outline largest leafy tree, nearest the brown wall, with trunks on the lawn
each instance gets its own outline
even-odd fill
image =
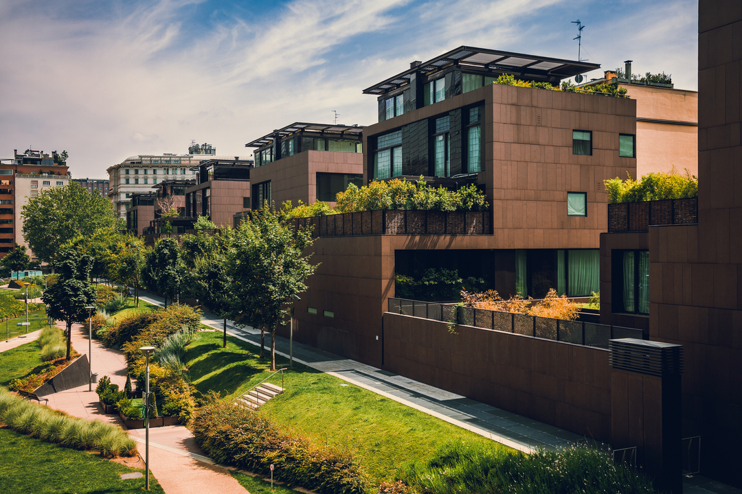
[[[238,324],[260,326],[260,357],[265,328],[271,330],[271,370],[275,370],[275,331],[290,304],[306,290],[306,278],[316,269],[303,250],[312,244],[311,230],[282,224],[272,208],[252,213],[234,230],[227,254],[232,318]]]

